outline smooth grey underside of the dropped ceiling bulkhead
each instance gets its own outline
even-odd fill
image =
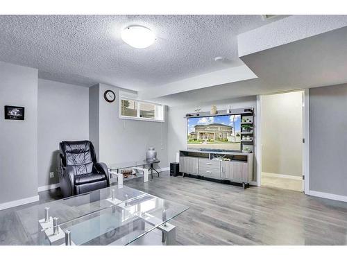
[[[258,78],[180,92],[153,101],[178,106],[347,83],[346,42],[347,26],[251,53],[241,58]]]

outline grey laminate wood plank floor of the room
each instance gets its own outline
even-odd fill
[[[346,245],[347,203],[270,187],[242,189],[168,172],[144,183],[124,184],[189,209],[170,222],[181,245]],[[40,202],[61,198],[60,190],[40,193]],[[0,245],[30,239],[16,214],[24,205],[0,211]]]

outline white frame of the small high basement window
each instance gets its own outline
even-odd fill
[[[127,100],[127,101],[135,101],[135,104],[136,104],[136,116],[124,116],[121,114],[121,101],[122,100]],[[157,111],[156,111],[156,108],[157,106],[160,106],[162,107],[162,119],[150,119],[150,118],[147,118],[147,117],[140,117],[139,116],[139,104],[140,103],[147,103],[147,104],[152,104],[152,105],[155,105],[154,107],[154,116],[156,116],[157,114]],[[119,104],[119,119],[127,119],[127,120],[138,120],[138,121],[151,121],[151,122],[162,122],[164,123],[165,121],[165,107],[164,105],[162,104],[159,104],[159,103],[153,103],[153,102],[149,102],[149,101],[142,101],[142,100],[139,100],[139,99],[136,99],[136,98],[133,98],[131,96],[128,96],[126,94],[124,95],[121,95],[119,94],[119,99],[118,99],[118,104]]]

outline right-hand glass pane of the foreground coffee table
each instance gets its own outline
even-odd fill
[[[147,194],[59,227],[75,245],[128,245],[187,209]]]

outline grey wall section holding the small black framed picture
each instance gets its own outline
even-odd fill
[[[5,120],[4,105],[25,120]],[[0,203],[37,196],[37,69],[0,62],[0,107]]]

